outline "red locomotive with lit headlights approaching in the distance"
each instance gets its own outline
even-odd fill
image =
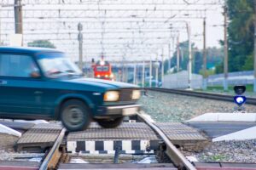
[[[113,73],[111,65],[108,61],[105,61],[102,57],[101,60],[94,63],[92,60],[92,68],[94,71],[94,77],[104,80],[112,80],[113,81]]]

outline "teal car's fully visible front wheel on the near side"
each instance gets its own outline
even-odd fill
[[[61,122],[69,132],[85,130],[91,122],[90,111],[78,99],[67,100],[61,106]]]

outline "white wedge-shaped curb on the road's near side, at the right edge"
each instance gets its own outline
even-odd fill
[[[223,136],[219,136],[212,139],[212,142],[217,141],[227,141],[227,140],[246,140],[246,139],[256,139],[256,127],[249,127],[236,133],[230,133]]]

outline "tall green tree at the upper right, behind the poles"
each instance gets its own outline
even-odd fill
[[[253,70],[253,0],[228,0],[229,71]]]

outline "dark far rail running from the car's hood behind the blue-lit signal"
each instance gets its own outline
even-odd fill
[[[213,94],[213,93],[206,93],[206,92],[195,92],[190,90],[181,90],[181,89],[170,89],[170,88],[145,88],[145,90],[152,90],[158,92],[165,92],[170,94],[181,94],[181,95],[188,95],[188,96],[195,96],[199,98],[205,99],[217,99],[223,101],[234,102],[234,96],[229,94]],[[256,105],[256,98],[248,97],[247,104]]]

